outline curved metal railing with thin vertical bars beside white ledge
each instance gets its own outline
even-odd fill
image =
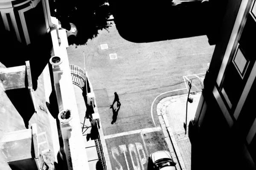
[[[77,85],[81,90],[86,83],[86,74],[81,68],[76,65],[70,64],[70,73],[72,77],[73,84]]]

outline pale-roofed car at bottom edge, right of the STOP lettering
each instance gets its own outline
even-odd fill
[[[176,163],[166,150],[156,151],[148,157],[148,170],[176,170]]]

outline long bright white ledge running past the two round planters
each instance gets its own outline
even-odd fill
[[[70,124],[72,125],[72,130],[68,134],[68,139],[64,140],[64,145],[66,147],[69,147],[70,149],[70,151],[66,152],[67,161],[72,162],[72,164],[70,164],[70,166],[72,167],[68,167],[68,169],[89,170],[84,139],[80,127],[79,112],[76,105],[76,97],[73,89],[70,66],[67,57],[67,34],[66,31],[63,29],[58,30],[58,35],[61,38],[60,44],[58,43],[57,30],[51,30],[54,54],[61,57],[61,59],[63,60],[60,65],[60,70],[62,73],[54,71],[54,74],[57,74],[56,76],[54,75],[54,81],[55,83],[59,83],[59,88],[57,88],[58,91],[56,91],[56,93],[57,96],[61,96],[63,109],[70,109],[73,114],[73,119],[70,122]],[[61,95],[58,95],[58,93],[61,93]]]

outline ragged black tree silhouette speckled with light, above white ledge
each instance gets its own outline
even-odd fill
[[[98,31],[107,29],[111,8],[108,0],[49,0],[51,16],[56,17],[61,26],[75,24],[77,37],[69,37],[70,44],[83,45],[97,36]]]

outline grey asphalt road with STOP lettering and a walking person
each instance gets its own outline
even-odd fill
[[[108,49],[101,49],[102,44]],[[204,77],[214,47],[208,44],[207,36],[129,42],[115,26],[99,31],[87,45],[70,45],[70,64],[84,68],[85,51],[86,71],[96,95],[112,169],[147,169],[151,152],[168,150],[157,115],[151,115],[152,102],[161,93],[186,88],[183,76]],[[110,59],[109,54],[117,58]],[[199,84],[197,80],[194,91],[201,90]],[[112,125],[114,92],[121,106]]]

